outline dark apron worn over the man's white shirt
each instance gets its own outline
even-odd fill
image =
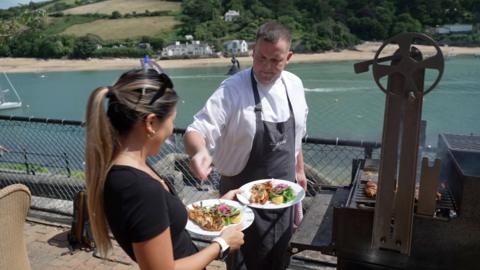
[[[262,121],[262,103],[257,82],[251,71],[253,95],[255,98],[256,132],[252,150],[245,168],[237,175],[222,176],[220,194],[259,179],[277,178],[295,181],[295,119],[288,97],[290,117],[285,122]],[[254,223],[244,231],[245,244],[227,259],[227,269],[232,270],[282,270],[289,262],[287,248],[293,232],[293,207],[275,210],[259,210]]]

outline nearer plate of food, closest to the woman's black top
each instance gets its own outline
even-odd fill
[[[223,199],[194,202],[187,205],[187,211],[186,229],[206,236],[219,236],[223,229],[236,224],[242,224],[242,230],[245,230],[255,218],[252,209],[247,206]]]

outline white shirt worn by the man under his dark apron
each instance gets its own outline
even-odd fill
[[[250,80],[251,68],[224,80],[193,117],[187,132],[196,131],[212,151],[213,164],[220,174],[234,176],[247,165],[252,149],[255,125],[255,99]],[[295,116],[295,156],[306,134],[308,107],[302,81],[283,71],[269,85],[257,83],[262,102],[262,120],[284,122],[290,116],[288,97]]]

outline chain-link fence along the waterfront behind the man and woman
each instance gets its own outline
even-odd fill
[[[149,159],[149,164],[173,183],[185,203],[218,196],[220,175],[216,171],[206,181],[191,174],[183,132],[175,129],[172,140]],[[71,214],[73,197],[85,188],[83,123],[0,116],[0,133],[0,187],[23,183],[37,198],[33,207]],[[322,185],[348,185],[352,161],[378,157],[379,147],[376,142],[305,139],[307,196],[314,195]],[[55,203],[45,206],[45,198]]]

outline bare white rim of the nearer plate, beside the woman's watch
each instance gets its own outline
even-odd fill
[[[226,203],[230,206],[239,208],[240,211],[241,211],[241,215],[242,215],[242,220],[240,221],[240,223],[242,223],[242,225],[243,225],[242,231],[245,230],[246,228],[248,228],[250,225],[252,225],[253,219],[255,218],[255,214],[253,214],[252,209],[250,209],[250,208],[248,208],[244,205],[241,205],[236,201],[231,201],[231,200],[223,200],[223,199],[202,200],[202,201],[194,202],[194,203],[191,203],[191,204],[187,205],[187,208],[188,209],[193,209],[192,204],[200,205],[200,203],[201,203],[202,206],[207,206],[207,207],[208,206],[214,206],[214,205],[220,204],[220,203]],[[235,225],[237,225],[237,224],[231,224],[231,225],[225,226],[225,227],[223,227],[223,229],[228,228],[230,226],[235,226]],[[219,236],[222,232],[222,231],[206,231],[206,230],[202,229],[200,226],[198,226],[195,222],[191,221],[190,219],[188,219],[187,226],[185,228],[189,232],[200,234],[200,235],[206,235],[206,236]]]

